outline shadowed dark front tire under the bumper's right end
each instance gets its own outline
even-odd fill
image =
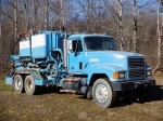
[[[134,94],[134,100],[137,103],[145,103],[149,97],[149,85],[146,88],[139,88]]]

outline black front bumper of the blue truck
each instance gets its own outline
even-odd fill
[[[154,79],[138,80],[138,81],[125,81],[125,82],[111,82],[113,91],[129,91],[135,90],[138,86],[155,85]]]

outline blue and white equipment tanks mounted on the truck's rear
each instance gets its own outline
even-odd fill
[[[46,58],[50,55],[51,49],[63,49],[63,33],[60,31],[41,31],[32,36],[32,49],[29,39],[20,42],[20,56],[33,58]]]

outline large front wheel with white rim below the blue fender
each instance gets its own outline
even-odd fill
[[[108,79],[98,79],[92,85],[92,98],[99,107],[113,107],[116,92],[113,92]]]

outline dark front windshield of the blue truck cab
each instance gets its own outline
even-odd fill
[[[86,51],[116,51],[114,40],[110,37],[85,37],[85,45]]]

